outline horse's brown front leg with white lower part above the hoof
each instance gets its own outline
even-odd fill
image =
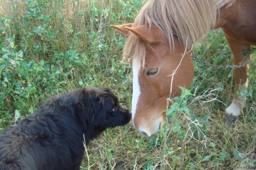
[[[235,41],[228,37],[228,34],[225,34],[225,36],[234,56],[234,64],[238,65],[248,62],[250,60],[250,45]],[[248,88],[248,69],[248,64],[244,67],[234,68],[234,98],[230,106],[226,108],[226,122],[235,121],[241,115],[241,109],[245,107],[246,98],[239,97],[237,91]]]

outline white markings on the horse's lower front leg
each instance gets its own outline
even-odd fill
[[[244,87],[248,88],[248,83],[249,83],[249,81],[247,79],[244,84],[239,86],[239,89],[243,90]],[[246,102],[246,98],[245,97],[244,98],[234,98],[232,103],[230,104],[230,106],[228,106],[228,108],[226,108],[226,113],[232,114],[233,116],[241,115],[240,109],[245,107],[245,102]]]

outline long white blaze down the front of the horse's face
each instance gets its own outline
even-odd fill
[[[140,97],[140,85],[139,85],[139,71],[140,63],[136,57],[132,59],[132,122],[134,124],[134,115],[136,113],[136,108],[138,100]]]

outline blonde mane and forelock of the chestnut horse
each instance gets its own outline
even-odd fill
[[[218,11],[217,0],[148,0],[138,13],[133,27],[138,25],[157,25],[162,29],[170,51],[174,49],[174,36],[189,48],[214,27]],[[133,33],[129,33],[124,45],[123,59],[130,61],[138,57],[144,68],[147,44]]]

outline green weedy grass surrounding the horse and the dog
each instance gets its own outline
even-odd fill
[[[131,68],[121,61],[124,37],[109,25],[132,22],[144,2],[0,0],[0,130],[31,114],[47,98],[74,88],[110,88],[131,108]],[[232,64],[220,29],[193,50],[213,64]],[[250,87],[241,93],[248,102],[238,121],[223,123],[223,111],[232,101],[233,70],[194,62],[194,96],[177,99],[190,115],[178,109],[152,139],[139,135],[131,122],[108,129],[87,146],[81,169],[152,170],[161,164],[166,169],[234,168],[239,153],[252,153],[256,146],[255,51],[253,47]]]

